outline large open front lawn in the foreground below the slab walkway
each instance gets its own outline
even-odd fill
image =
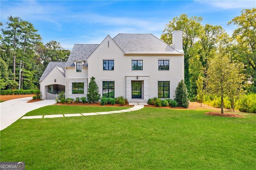
[[[17,120],[1,131],[1,161],[25,161],[26,169],[255,169],[256,114],[204,112]]]

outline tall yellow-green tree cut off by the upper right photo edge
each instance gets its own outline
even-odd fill
[[[245,64],[247,77],[252,76],[256,86],[256,8],[244,9],[228,25],[237,25],[233,32],[236,40],[234,58]]]

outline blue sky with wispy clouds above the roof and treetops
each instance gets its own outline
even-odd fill
[[[43,42],[56,40],[64,48],[75,43],[100,43],[108,34],[152,33],[160,37],[175,16],[202,16],[203,24],[222,26],[256,1],[1,1],[1,21],[19,16],[32,22]]]

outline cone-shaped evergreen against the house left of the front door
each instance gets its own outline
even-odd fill
[[[89,103],[96,103],[100,100],[99,87],[94,77],[91,77],[88,85],[87,100]]]

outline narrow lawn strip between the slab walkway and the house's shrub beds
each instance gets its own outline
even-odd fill
[[[131,106],[132,107],[132,106]],[[115,110],[124,110],[131,107],[114,107],[114,106],[65,106],[49,105],[44,106],[26,113],[24,116],[51,115],[51,114],[71,114],[71,113],[92,113],[107,112]]]

